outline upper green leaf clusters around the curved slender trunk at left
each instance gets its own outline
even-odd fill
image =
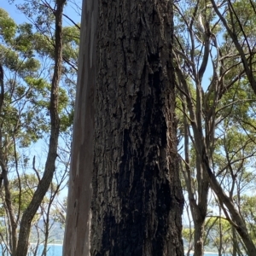
[[[53,72],[49,58],[54,60],[55,41],[51,32],[35,32],[30,23],[16,25],[3,9],[0,10],[3,15],[0,20],[0,39],[3,42],[0,44],[0,62],[6,68],[5,73],[10,74],[4,82],[5,96],[1,113],[6,135],[4,140],[8,141],[15,135],[20,147],[27,148],[49,132],[50,76]],[[42,19],[38,17],[38,26]],[[63,34],[63,56],[67,62],[71,61],[76,66],[79,30],[68,26],[64,27]],[[45,61],[48,61],[48,67],[45,67]],[[70,73],[69,77],[75,79],[72,69],[64,67],[64,70],[66,78]],[[74,97],[68,95],[72,89],[64,85],[59,90],[58,105],[63,132],[73,125],[74,101]],[[11,134],[14,130],[15,134]]]

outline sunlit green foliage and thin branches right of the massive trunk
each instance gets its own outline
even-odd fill
[[[197,211],[206,208],[207,204],[211,212],[220,207],[214,200],[212,203],[212,198],[208,202],[201,200],[207,190],[201,190],[203,183],[207,182],[202,175],[205,170],[199,146],[203,143],[216,183],[234,205],[227,207],[227,199],[223,200],[222,207],[228,212],[224,216],[232,216],[230,208],[236,209],[241,219],[246,221],[250,237],[255,241],[255,202],[248,194],[255,189],[256,96],[234,38],[241,44],[254,76],[256,5],[244,0],[217,3],[222,15],[218,16],[212,3],[185,0],[174,3],[176,33],[173,55],[174,67],[179,72],[177,117],[179,141],[184,144],[180,146],[180,152],[183,158],[186,156],[182,184],[186,186],[185,195],[189,195],[193,218],[198,217]],[[223,26],[222,18],[227,21],[234,38]],[[205,66],[202,66],[203,63]],[[203,73],[200,73],[202,70]],[[179,79],[181,76],[183,80]],[[188,126],[186,140],[183,124]],[[189,143],[185,145],[187,141]],[[218,193],[220,189],[216,188],[215,196],[223,199],[222,193]],[[232,222],[224,219],[224,216],[218,217],[217,213],[216,217],[206,220],[205,227],[208,232],[205,245],[214,243],[221,253],[231,252],[232,239],[240,247],[242,244],[231,226]],[[232,221],[236,223],[236,219]]]

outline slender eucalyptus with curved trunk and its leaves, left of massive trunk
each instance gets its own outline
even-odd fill
[[[50,200],[53,200],[55,193],[61,189],[63,178],[67,177],[69,164],[66,155],[70,147],[67,132],[72,131],[73,123],[73,78],[79,30],[71,26],[65,27],[62,37],[61,9],[64,3],[65,1],[58,2],[55,12],[48,13],[48,21],[54,21],[55,26],[50,26],[51,31],[44,30],[44,34],[39,26],[36,26],[35,30],[32,23],[16,25],[15,21],[0,9],[1,181],[3,180],[3,205],[6,206],[6,216],[10,224],[6,246],[12,255],[26,255],[33,218],[38,214],[38,208],[52,178],[55,176],[58,183]],[[68,66],[62,65],[64,58]],[[61,85],[65,82],[66,87],[60,88],[60,81]],[[61,147],[57,149],[60,136]],[[42,138],[49,138],[44,172],[39,171],[35,166],[35,159],[31,163],[30,155],[26,154],[26,148]],[[65,145],[65,142],[68,144]],[[26,209],[22,209],[24,187],[22,188],[20,183],[20,171],[27,169],[35,173],[37,188],[32,190],[31,200],[26,198],[29,200],[26,201]],[[57,172],[58,169],[64,170]],[[10,189],[12,176],[18,177],[18,195]],[[15,208],[14,198],[18,201],[18,208]]]

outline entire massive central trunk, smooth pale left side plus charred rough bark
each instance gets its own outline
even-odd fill
[[[181,256],[172,1],[86,0],[82,29],[63,255]]]

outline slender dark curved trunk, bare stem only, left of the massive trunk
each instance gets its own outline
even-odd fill
[[[20,221],[20,234],[15,256],[26,256],[28,250],[28,240],[31,230],[32,218],[34,218],[38,207],[44,199],[44,195],[49,189],[55,172],[55,160],[57,157],[58,138],[60,131],[60,119],[58,115],[58,92],[61,79],[62,63],[62,12],[66,0],[56,1],[55,11],[55,70],[51,84],[49,115],[50,115],[50,137],[49,152],[47,155],[44,175],[38,183],[32,201],[23,213]]]

